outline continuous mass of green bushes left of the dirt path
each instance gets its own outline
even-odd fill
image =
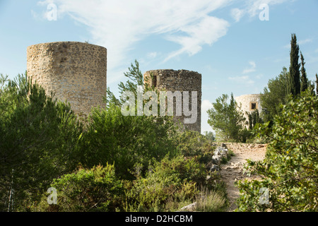
[[[122,91],[143,84],[137,62],[131,67]],[[125,117],[110,90],[105,109],[78,119],[27,76],[1,76],[0,87],[2,211],[173,211],[203,191],[217,205],[200,210],[226,206],[207,167],[211,136],[179,131],[171,117]],[[47,203],[50,187],[57,204]]]

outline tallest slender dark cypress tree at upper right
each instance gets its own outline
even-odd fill
[[[295,34],[292,34],[290,47],[290,77],[288,81],[288,94],[298,95],[300,94],[300,64],[298,64],[299,45],[297,44],[297,37]]]

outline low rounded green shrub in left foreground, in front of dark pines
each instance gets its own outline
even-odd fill
[[[78,169],[55,179],[57,204],[49,206],[46,195],[35,210],[59,212],[115,211],[124,202],[124,184],[115,177],[114,165]]]

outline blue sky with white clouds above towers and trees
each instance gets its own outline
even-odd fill
[[[57,6],[56,20],[49,20],[49,4]],[[262,4],[269,20],[260,19]],[[261,93],[289,67],[292,33],[314,81],[317,28],[317,0],[0,0],[0,73],[24,73],[29,45],[57,41],[106,47],[107,86],[115,94],[135,59],[143,72],[198,71],[201,131],[211,131],[206,110],[217,97]]]

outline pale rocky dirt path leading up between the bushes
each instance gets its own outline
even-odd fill
[[[226,183],[230,206],[228,212],[235,210],[235,200],[239,197],[240,191],[234,185],[235,180],[244,179],[242,174],[243,165],[247,159],[263,160],[266,153],[266,145],[249,143],[225,143],[235,156],[225,165],[221,165],[220,175]]]

